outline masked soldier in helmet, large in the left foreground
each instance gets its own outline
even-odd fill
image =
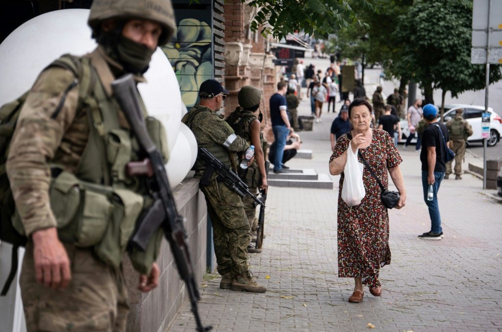
[[[88,24],[97,49],[42,71],[7,161],[13,224],[29,238],[20,277],[29,331],[126,330],[121,258],[150,202],[147,188],[123,172],[137,160],[135,138],[111,82],[127,73],[144,81],[174,16],[169,0],[95,0]],[[157,232],[146,252],[130,252],[143,292],[158,285],[161,239]]]

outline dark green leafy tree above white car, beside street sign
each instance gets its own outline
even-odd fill
[[[442,89],[444,97],[485,87],[485,66],[470,63],[472,1],[417,1],[408,13],[399,17],[394,37],[402,45],[396,75],[408,76],[420,83],[427,103]],[[490,83],[502,78],[500,66],[490,66]]]

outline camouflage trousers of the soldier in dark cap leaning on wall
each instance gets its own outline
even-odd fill
[[[248,270],[247,245],[250,227],[240,197],[223,183],[213,180],[200,186],[206,198],[207,213],[213,227],[214,253],[218,273],[235,275]]]

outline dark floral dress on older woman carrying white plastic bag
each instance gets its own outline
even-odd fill
[[[403,159],[387,131],[372,130],[371,144],[359,151],[382,185],[388,187],[388,169],[396,167]],[[349,143],[348,134],[340,136],[329,161],[340,156]],[[389,214],[380,198],[381,189],[364,167],[362,179],[366,195],[361,204],[350,207],[341,199],[343,179],[342,173],[338,191],[338,276],[361,277],[363,284],[379,287],[380,267],[391,263]]]

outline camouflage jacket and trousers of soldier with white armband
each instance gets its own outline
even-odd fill
[[[237,159],[232,152],[245,151],[249,144],[235,135],[230,125],[209,108],[195,105],[182,121],[192,130],[197,145],[235,171]],[[201,179],[205,165],[197,159],[195,178]],[[213,227],[214,253],[221,275],[240,275],[248,270],[246,247],[251,241],[250,227],[240,196],[217,179],[213,172],[208,186],[201,186],[206,198],[207,212]]]

